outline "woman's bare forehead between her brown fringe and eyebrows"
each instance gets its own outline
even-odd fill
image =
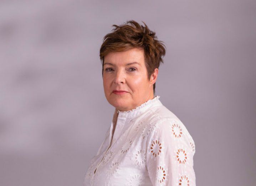
[[[132,48],[123,52],[110,52],[104,57],[104,64],[127,64],[132,62],[144,63],[144,50]]]

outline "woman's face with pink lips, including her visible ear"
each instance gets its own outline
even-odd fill
[[[108,53],[104,57],[103,67],[105,96],[119,111],[132,110],[154,98],[153,84],[157,75],[156,68],[148,80],[143,49],[132,48],[124,52]]]

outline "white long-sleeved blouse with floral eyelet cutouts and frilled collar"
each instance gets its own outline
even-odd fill
[[[195,143],[184,124],[159,100],[117,111],[85,174],[85,186],[195,186]],[[95,173],[94,173],[95,172]]]

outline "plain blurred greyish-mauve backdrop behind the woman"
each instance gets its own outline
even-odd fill
[[[2,0],[1,186],[82,186],[114,112],[99,48],[131,19],[167,46],[156,95],[195,141],[196,184],[256,184],[254,0]]]

